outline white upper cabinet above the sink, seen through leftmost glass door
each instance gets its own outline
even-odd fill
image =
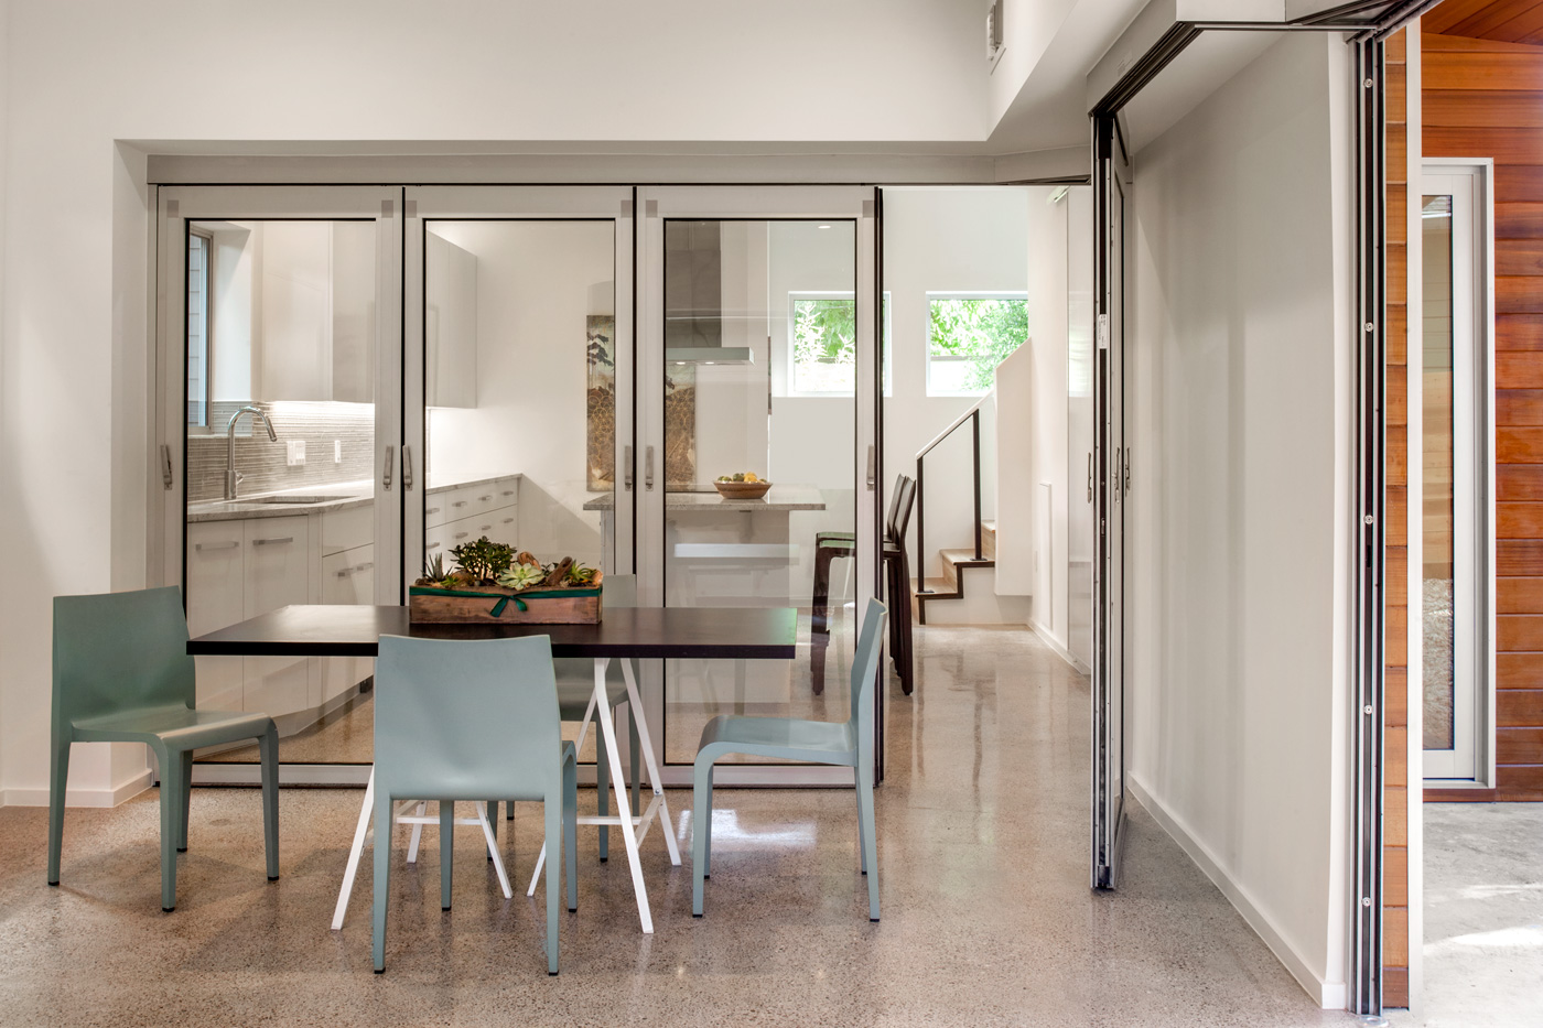
[[[252,398],[373,401],[375,225],[256,225]]]

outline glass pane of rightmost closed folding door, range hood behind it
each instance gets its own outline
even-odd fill
[[[855,253],[852,221],[665,222],[665,602],[801,608],[792,664],[667,662],[670,763],[690,764],[719,713],[849,713],[853,560],[839,542],[829,634],[810,633],[809,611],[816,536],[856,528]],[[822,395],[795,395],[799,374]],[[730,499],[725,475],[772,486]]]

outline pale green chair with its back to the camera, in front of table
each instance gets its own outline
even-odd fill
[[[512,796],[546,806],[546,846],[568,857],[579,906],[577,753],[562,741],[548,636],[488,641],[381,636],[375,661],[375,971],[386,969],[393,800],[438,800],[440,895],[451,905],[457,800]],[[557,874],[546,875],[546,971],[557,974]]]

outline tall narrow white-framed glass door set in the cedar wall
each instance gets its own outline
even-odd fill
[[[1410,508],[1421,525],[1424,778],[1444,786],[1492,786],[1495,772],[1492,176],[1491,161],[1427,161],[1420,198],[1409,378],[1420,387],[1421,462]]]

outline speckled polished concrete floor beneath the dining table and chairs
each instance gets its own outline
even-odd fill
[[[71,810],[63,883],[46,817],[0,809],[0,1023],[17,1025],[1345,1025],[1315,1008],[1151,818],[1125,888],[1088,889],[1088,682],[1029,633],[918,628],[913,698],[892,690],[880,789],[883,921],[866,917],[852,793],[717,793],[707,917],[690,857],[647,840],[656,934],[626,864],[580,834],[579,911],[548,977],[542,895],[505,901],[457,835],[392,877],[386,974],[370,974],[366,863],[327,921],[360,793],[282,793],[282,878],[262,874],[255,790],[198,790],[179,905],[159,909],[154,792]],[[892,682],[893,684],[893,682]],[[690,795],[673,792],[682,847]],[[582,796],[582,803],[593,796]],[[539,810],[503,844],[529,875]],[[398,867],[403,834],[397,837]]]

